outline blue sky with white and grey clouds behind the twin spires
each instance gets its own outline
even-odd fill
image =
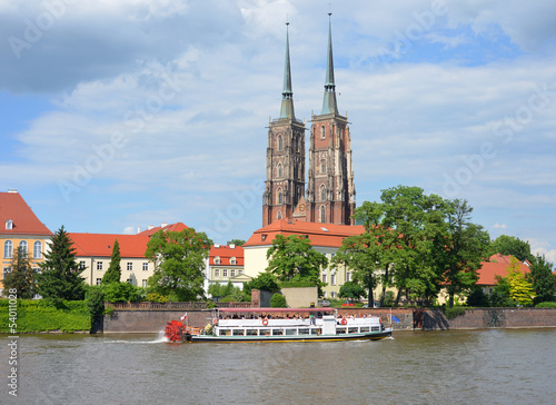
[[[357,205],[398,185],[466,199],[556,264],[554,0],[0,0],[0,191],[52,231],[248,239],[286,22],[309,128],[329,11]]]

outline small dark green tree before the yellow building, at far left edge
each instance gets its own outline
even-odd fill
[[[16,249],[11,260],[11,269],[4,274],[3,290],[4,297],[9,296],[10,289],[16,289],[18,298],[30,299],[37,290],[34,285],[36,271],[27,256],[27,251],[20,246]]]

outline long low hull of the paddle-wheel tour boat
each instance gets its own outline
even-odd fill
[[[248,343],[248,342],[339,342],[339,340],[379,340],[391,336],[391,329],[363,334],[341,335],[291,335],[291,336],[212,336],[190,335],[186,338],[189,343]]]

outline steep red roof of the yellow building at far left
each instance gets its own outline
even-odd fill
[[[6,229],[6,221],[13,221]],[[52,235],[17,191],[0,192],[0,235]]]

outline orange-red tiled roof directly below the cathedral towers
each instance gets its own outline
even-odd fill
[[[307,235],[312,246],[340,247],[341,241],[365,231],[363,225],[336,225],[280,219],[256,230],[244,247],[272,245],[276,235]]]

